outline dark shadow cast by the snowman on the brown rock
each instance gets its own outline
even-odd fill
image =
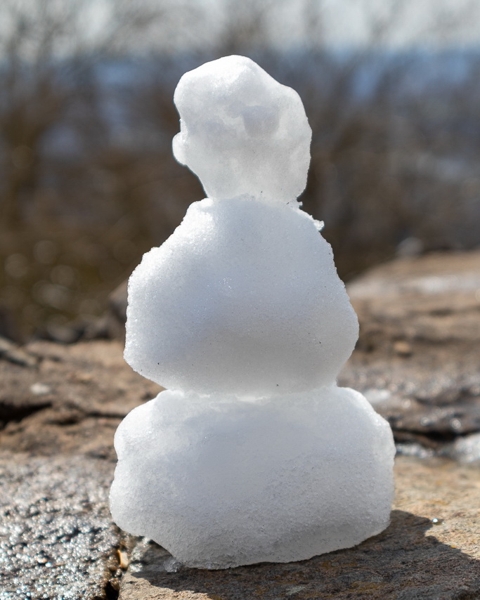
[[[439,542],[434,523],[395,510],[380,535],[358,547],[297,563],[261,563],[226,570],[179,568],[145,544],[122,582],[121,599],[396,599],[467,600],[480,594],[480,561]],[[433,535],[432,535],[433,534]],[[204,596],[203,594],[207,594]]]

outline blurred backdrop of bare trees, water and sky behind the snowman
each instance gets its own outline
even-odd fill
[[[313,129],[301,200],[344,280],[480,245],[478,0],[2,0],[0,334],[75,341],[200,183],[181,74],[249,56]],[[103,333],[97,328],[97,334]]]

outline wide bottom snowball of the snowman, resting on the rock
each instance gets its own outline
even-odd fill
[[[309,559],[389,523],[391,429],[351,389],[164,391],[124,419],[115,449],[113,519],[190,567]]]

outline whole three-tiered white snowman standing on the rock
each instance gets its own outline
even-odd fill
[[[174,100],[174,154],[209,197],[129,281],[125,358],[169,389],[117,430],[112,516],[198,568],[358,544],[389,523],[394,443],[336,384],[358,322],[296,200],[304,107],[241,56],[186,73]]]

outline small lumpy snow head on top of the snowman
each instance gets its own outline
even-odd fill
[[[184,74],[174,100],[174,155],[209,197],[286,203],[304,190],[311,129],[303,104],[252,60],[226,56]]]

